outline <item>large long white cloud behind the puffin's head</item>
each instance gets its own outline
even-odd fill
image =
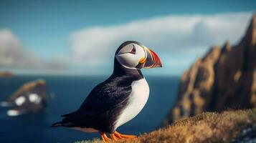
[[[210,46],[237,43],[252,12],[165,16],[113,26],[94,26],[71,34],[72,57],[78,65],[98,71],[113,65],[115,49],[127,40],[141,41],[163,61],[158,73],[181,73]],[[174,69],[176,68],[176,69]]]

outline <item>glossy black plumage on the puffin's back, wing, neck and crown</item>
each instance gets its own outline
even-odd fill
[[[115,54],[132,42],[136,41],[126,41],[120,45]],[[142,78],[141,70],[126,69],[115,59],[113,74],[90,92],[76,112],[62,115],[64,119],[52,124],[52,127],[85,127],[100,132],[115,132],[115,122],[128,104],[131,84]]]

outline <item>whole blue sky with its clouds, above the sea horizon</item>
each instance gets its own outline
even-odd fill
[[[123,41],[156,51],[181,75],[213,45],[237,44],[256,1],[0,1],[0,71],[111,74]]]

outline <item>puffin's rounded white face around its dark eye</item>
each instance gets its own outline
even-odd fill
[[[115,55],[118,62],[128,69],[141,69],[138,67],[141,59],[146,59],[147,55],[144,47],[131,43],[123,46],[122,49]],[[136,67],[137,66],[137,67]]]

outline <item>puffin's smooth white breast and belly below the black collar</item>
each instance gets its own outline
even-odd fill
[[[136,117],[148,100],[149,87],[146,79],[143,78],[133,82],[131,88],[132,92],[128,97],[128,105],[118,117],[115,123],[115,129]]]

